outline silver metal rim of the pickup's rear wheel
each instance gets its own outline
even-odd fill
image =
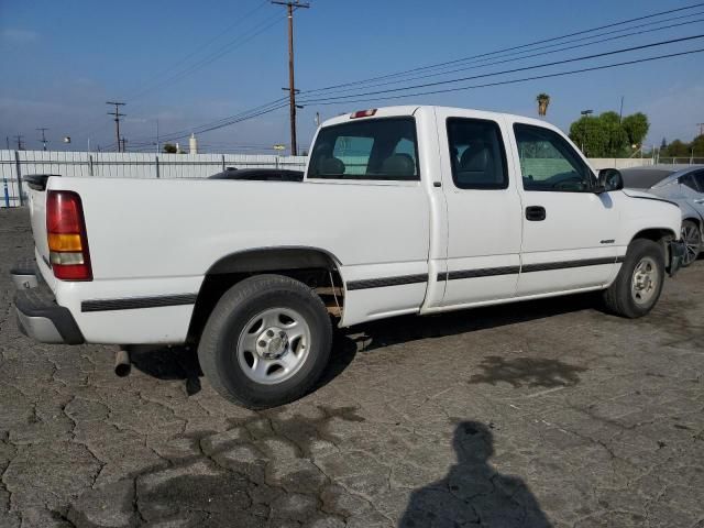
[[[270,308],[244,326],[235,353],[250,380],[274,385],[295,375],[309,350],[310,328],[306,319],[290,308]]]

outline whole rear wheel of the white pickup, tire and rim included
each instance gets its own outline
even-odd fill
[[[293,278],[258,275],[218,301],[198,360],[221,396],[262,409],[304,396],[326,367],[331,343],[330,317],[318,295]]]

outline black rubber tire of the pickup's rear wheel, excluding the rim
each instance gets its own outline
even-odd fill
[[[252,333],[250,330],[243,333],[245,326],[257,314],[279,308],[294,310],[305,320],[310,337],[307,355],[292,377],[268,385],[257,383],[246,373],[246,365],[243,367],[241,364],[239,343],[244,336],[258,332],[255,330]],[[331,345],[330,317],[322,300],[311,288],[282,275],[257,275],[232,286],[220,298],[204,328],[198,360],[204,374],[221,396],[250,409],[264,409],[304,396],[322,374]],[[254,353],[248,351],[243,354],[250,354],[256,358],[252,361],[258,361]],[[254,372],[253,369],[250,372]]]

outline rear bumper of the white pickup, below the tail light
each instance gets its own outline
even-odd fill
[[[81,344],[84,336],[67,308],[58,306],[42,280],[33,261],[20,262],[10,271],[18,292],[14,309],[20,331],[43,343]]]

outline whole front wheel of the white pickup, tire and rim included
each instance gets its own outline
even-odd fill
[[[658,302],[663,282],[663,248],[651,240],[634,240],[616,279],[604,292],[604,302],[618,316],[642,317]]]

